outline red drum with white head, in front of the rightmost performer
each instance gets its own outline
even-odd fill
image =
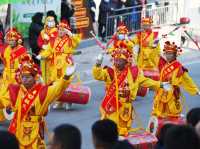
[[[185,120],[183,117],[158,118],[156,116],[151,116],[147,130],[153,135],[158,135],[160,133],[160,129],[168,123],[182,125],[185,124]]]

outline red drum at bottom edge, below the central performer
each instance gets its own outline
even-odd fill
[[[138,132],[120,138],[127,139],[136,149],[154,149],[155,144],[158,141],[156,136],[148,132]]]

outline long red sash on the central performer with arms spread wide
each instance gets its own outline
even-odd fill
[[[120,87],[121,84],[124,82],[124,80],[126,79],[128,73],[128,68],[126,68],[123,72],[121,72],[118,76],[117,76],[117,82],[118,82],[118,86]],[[116,85],[115,85],[115,79],[112,81],[112,83],[110,84],[110,87],[108,88],[106,95],[103,99],[102,102],[102,108],[106,111],[106,113],[111,114],[113,112],[115,112],[117,110],[117,103],[116,103]],[[118,108],[121,107],[120,102],[118,101]]]

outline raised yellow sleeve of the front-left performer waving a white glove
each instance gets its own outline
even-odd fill
[[[58,100],[64,90],[69,86],[70,82],[71,79],[59,79],[55,81],[53,85],[49,86],[45,101],[42,105],[42,109],[48,109],[49,104],[51,104],[53,101]]]

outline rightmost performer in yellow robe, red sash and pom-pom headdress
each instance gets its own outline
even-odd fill
[[[189,76],[188,71],[176,60],[178,47],[167,41],[164,46],[166,63],[163,64],[160,81],[169,81],[170,91],[159,89],[155,93],[152,115],[157,117],[179,117],[182,112],[181,90],[183,87],[191,95],[200,95],[197,85]]]

